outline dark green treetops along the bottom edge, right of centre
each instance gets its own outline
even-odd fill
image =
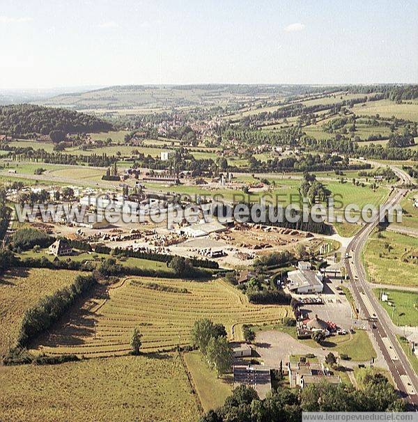
[[[300,422],[302,412],[404,412],[405,403],[380,374],[368,374],[364,388],[346,384],[308,384],[302,391],[277,387],[265,399],[240,385],[222,407],[210,410],[199,422]]]

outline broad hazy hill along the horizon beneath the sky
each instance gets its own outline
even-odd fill
[[[321,88],[323,91],[323,88]],[[56,95],[38,104],[86,109],[161,109],[201,105],[223,105],[254,98],[299,95],[320,91],[302,85],[166,85],[110,86],[84,93]]]

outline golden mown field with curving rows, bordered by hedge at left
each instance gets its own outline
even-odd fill
[[[147,283],[156,283],[160,290]],[[164,291],[174,288],[176,291]],[[197,282],[130,277],[98,292],[79,312],[64,320],[38,347],[47,353],[86,357],[130,352],[130,338],[139,327],[144,352],[171,350],[190,343],[194,321],[221,322],[231,340],[242,339],[242,325],[280,322],[288,306],[249,304],[247,297],[222,280]]]

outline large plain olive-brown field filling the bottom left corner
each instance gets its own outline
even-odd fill
[[[178,354],[0,367],[0,421],[189,422],[196,398]]]

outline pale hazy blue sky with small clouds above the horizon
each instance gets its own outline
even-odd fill
[[[0,88],[417,83],[417,22],[417,0],[0,0]]]

